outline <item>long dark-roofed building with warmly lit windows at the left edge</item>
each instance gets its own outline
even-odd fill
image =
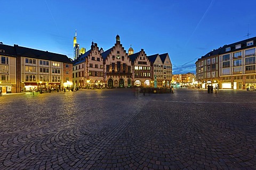
[[[0,55],[3,92],[62,89],[72,81],[72,62],[66,55],[3,44]]]

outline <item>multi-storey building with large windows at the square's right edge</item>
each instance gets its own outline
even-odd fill
[[[196,78],[202,88],[219,84],[221,89],[254,90],[256,37],[224,45],[198,58]]]

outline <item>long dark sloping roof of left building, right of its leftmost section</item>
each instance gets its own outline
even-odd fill
[[[22,57],[29,57],[29,58],[38,58],[42,60],[50,60],[50,61],[57,61],[63,63],[72,63],[70,59],[66,55],[45,52],[42,50],[27,48],[27,47],[20,47],[18,45],[14,45],[16,50],[17,56]]]

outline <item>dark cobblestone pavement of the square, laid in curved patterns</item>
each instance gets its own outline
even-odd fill
[[[0,97],[0,169],[256,169],[256,91]]]

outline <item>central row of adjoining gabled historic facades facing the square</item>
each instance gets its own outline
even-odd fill
[[[153,67],[157,68],[155,72]],[[134,54],[132,47],[127,54],[119,35],[115,45],[105,52],[92,42],[91,49],[73,61],[73,84],[79,88],[154,87],[155,75],[157,87],[171,86],[169,55],[148,57],[143,49]]]

